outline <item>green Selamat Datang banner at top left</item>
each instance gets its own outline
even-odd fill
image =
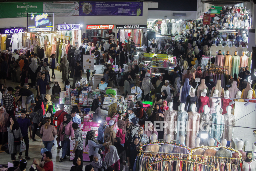
[[[0,18],[27,17],[27,13],[42,13],[43,2],[3,2],[0,3]]]

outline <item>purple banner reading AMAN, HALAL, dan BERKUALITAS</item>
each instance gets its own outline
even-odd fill
[[[142,16],[143,2],[79,2],[80,16]]]

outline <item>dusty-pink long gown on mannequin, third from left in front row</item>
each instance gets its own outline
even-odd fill
[[[200,126],[200,114],[197,112],[188,112],[188,125],[187,125],[187,137],[186,145],[191,149],[196,147],[195,139],[196,132],[199,131]]]

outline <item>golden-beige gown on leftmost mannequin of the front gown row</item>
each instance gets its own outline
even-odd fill
[[[163,118],[164,121],[168,122],[168,127],[164,128],[163,139],[165,139],[166,134],[170,134],[171,140],[174,140],[175,124],[177,123],[177,111],[168,109],[164,112]]]

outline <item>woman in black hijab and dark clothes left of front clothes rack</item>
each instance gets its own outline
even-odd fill
[[[139,150],[139,138],[138,137],[134,137],[132,144],[130,145],[130,147],[128,147],[127,150],[127,160],[128,160],[128,166],[130,167],[130,169],[133,169],[133,165],[135,162],[135,159],[138,155],[138,150]]]

